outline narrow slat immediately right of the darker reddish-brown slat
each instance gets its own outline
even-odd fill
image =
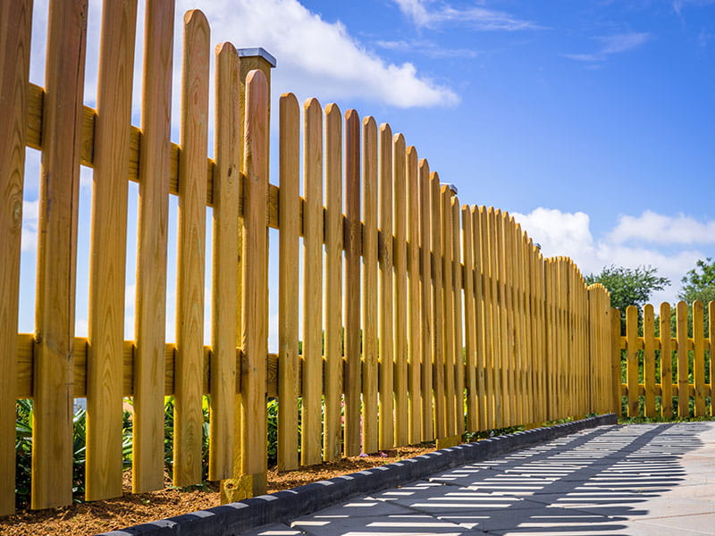
[[[377,425],[377,125],[363,120],[363,451],[375,452]]]

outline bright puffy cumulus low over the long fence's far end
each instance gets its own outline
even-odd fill
[[[694,222],[692,218],[682,215],[670,217],[650,211],[644,213],[646,214],[655,222],[667,223],[680,220]],[[593,237],[588,214],[581,212],[568,213],[539,207],[529,214],[512,215],[521,223],[534,242],[541,244],[543,255],[568,255],[585,274],[600,272],[604,266],[610,264],[629,268],[640,265],[656,267],[658,273],[668,277],[672,284],[669,288],[655,294],[652,297],[654,302],[675,301],[680,288],[680,279],[694,267],[697,259],[707,256],[702,250],[689,247],[698,242],[695,239],[652,240],[650,231],[645,232],[647,220],[645,224],[638,225],[639,222],[643,223],[643,215],[637,218],[621,216],[614,229],[599,238]],[[698,225],[700,227],[692,225],[689,236],[704,238],[703,229],[707,224]],[[654,234],[659,235],[657,230]],[[660,236],[666,235],[660,233]],[[704,240],[701,240],[701,243],[704,243]],[[708,243],[715,243],[715,239],[710,237]],[[674,244],[677,247],[673,247]]]

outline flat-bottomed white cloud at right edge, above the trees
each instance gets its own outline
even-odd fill
[[[715,244],[715,220],[698,222],[685,214],[667,216],[650,210],[640,216],[621,216],[610,240],[622,244],[644,240],[658,244]]]

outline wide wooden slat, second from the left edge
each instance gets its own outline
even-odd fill
[[[33,371],[34,509],[62,507],[72,500],[72,352],[87,3],[55,0],[48,21]]]

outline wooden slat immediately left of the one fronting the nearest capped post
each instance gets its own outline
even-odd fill
[[[236,347],[239,341],[240,96],[239,54],[231,43],[215,52],[214,221],[211,314],[211,397],[208,479],[231,478],[236,435]]]

